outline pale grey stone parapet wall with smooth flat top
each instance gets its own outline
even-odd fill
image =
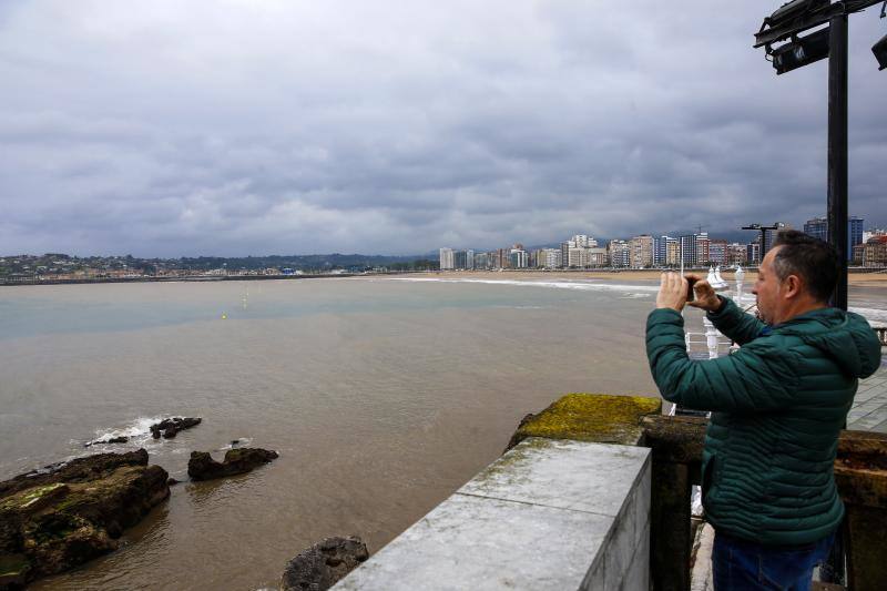
[[[650,450],[530,438],[335,589],[646,591]]]

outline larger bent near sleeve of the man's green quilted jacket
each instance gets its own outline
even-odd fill
[[[684,347],[683,317],[673,309],[651,312],[646,355],[653,379],[666,400],[726,412],[792,406],[799,364],[784,344],[776,346],[772,338],[758,338],[733,355],[704,361],[691,360]]]

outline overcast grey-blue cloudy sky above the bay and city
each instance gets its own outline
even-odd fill
[[[797,225],[826,208],[827,63],[776,77],[752,49],[778,4],[2,0],[0,255]],[[878,7],[850,18],[866,227],[887,225],[885,33]]]

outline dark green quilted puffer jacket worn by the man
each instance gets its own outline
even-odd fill
[[[724,299],[708,314],[742,347],[687,358],[684,319],[655,309],[646,355],[666,400],[711,410],[702,459],[703,506],[717,531],[797,546],[837,529],[844,506],[832,469],[858,378],[880,365],[880,343],[853,313],[822,308],[768,327]]]

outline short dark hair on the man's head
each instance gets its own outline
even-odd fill
[[[779,281],[797,275],[818,302],[828,302],[838,282],[838,256],[827,243],[797,230],[776,234],[773,247],[781,246],[773,257],[773,269]]]

